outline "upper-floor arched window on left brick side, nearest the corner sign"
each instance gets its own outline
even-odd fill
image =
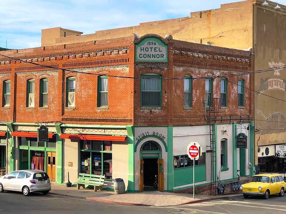
[[[98,107],[108,106],[108,76],[98,77]]]

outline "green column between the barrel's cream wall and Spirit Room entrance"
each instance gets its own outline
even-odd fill
[[[128,134],[128,187],[127,192],[135,191],[134,178],[134,126],[126,126]]]

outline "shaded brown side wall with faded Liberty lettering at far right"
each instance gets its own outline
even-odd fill
[[[286,7],[273,9],[255,5],[254,52],[255,70],[275,68],[286,64]],[[255,90],[282,100],[286,99],[286,69],[256,73]],[[286,141],[285,102],[255,94],[255,151],[257,164],[257,145],[280,144]],[[274,121],[274,122],[271,122]]]

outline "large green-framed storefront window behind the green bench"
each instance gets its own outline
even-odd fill
[[[112,179],[112,142],[98,140],[80,141],[81,173],[105,175]]]

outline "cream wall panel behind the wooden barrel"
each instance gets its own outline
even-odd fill
[[[125,190],[128,186],[128,139],[112,142],[112,179],[123,178]]]

